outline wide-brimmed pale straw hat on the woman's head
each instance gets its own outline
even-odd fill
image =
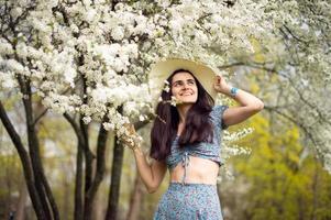
[[[217,91],[213,88],[213,84],[217,70],[211,69],[202,63],[183,58],[167,58],[154,64],[150,72],[148,84],[152,90],[153,100],[158,100],[162,89],[165,87],[165,80],[177,69],[187,69],[191,72],[206,91],[213,99],[216,98]]]

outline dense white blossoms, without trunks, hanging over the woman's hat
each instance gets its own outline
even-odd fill
[[[254,56],[256,44],[271,47],[275,38],[277,23],[264,10],[267,4],[254,0],[234,6],[218,0],[11,1],[0,11],[5,13],[0,90],[18,88],[18,77],[29,79],[51,110],[79,113],[85,123],[99,121],[118,136],[128,135],[125,124],[147,120],[152,97],[161,92],[147,81],[155,62],[179,57],[218,69]],[[230,144],[224,148],[228,153],[222,155],[246,153]]]

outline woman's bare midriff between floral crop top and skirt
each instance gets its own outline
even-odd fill
[[[184,167],[178,163],[170,172],[170,182],[181,183],[184,176]],[[196,156],[189,156],[189,164],[187,166],[186,183],[187,184],[209,184],[216,185],[219,173],[219,164],[208,160]]]

